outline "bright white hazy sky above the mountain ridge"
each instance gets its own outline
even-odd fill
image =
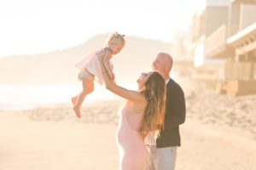
[[[195,3],[196,2],[196,3]],[[0,57],[69,48],[97,34],[171,42],[186,30],[201,0],[0,1]]]

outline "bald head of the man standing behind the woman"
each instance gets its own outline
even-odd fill
[[[172,70],[172,56],[166,53],[157,54],[152,64],[154,71],[158,71],[162,77],[167,79]]]

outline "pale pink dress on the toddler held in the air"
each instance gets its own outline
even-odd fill
[[[111,66],[113,66],[111,63],[109,63]],[[89,54],[86,54],[84,58],[79,59],[79,61],[76,63],[76,66],[83,71],[86,69],[90,72],[90,74],[94,75],[96,78],[96,81],[99,82],[101,85],[104,83],[104,79],[102,77],[102,69],[96,54],[96,50],[90,52]]]

